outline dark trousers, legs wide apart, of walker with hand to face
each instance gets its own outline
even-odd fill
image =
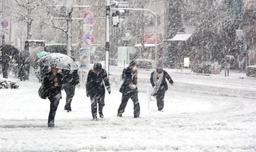
[[[133,114],[134,116],[139,116],[140,115],[140,105],[139,105],[139,99],[138,99],[138,93],[137,92],[132,92],[125,94],[123,93],[122,95],[122,101],[118,109],[118,114],[124,113],[124,109],[129,101],[129,98],[132,99],[133,102]]]

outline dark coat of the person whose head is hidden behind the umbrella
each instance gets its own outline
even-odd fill
[[[79,83],[78,70],[74,70],[74,71],[72,71],[72,73],[70,73],[69,70],[63,69],[62,75],[63,75],[63,84],[65,84],[65,86],[68,86],[70,84],[77,85]]]

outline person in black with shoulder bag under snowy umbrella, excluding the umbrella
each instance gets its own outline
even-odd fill
[[[50,112],[48,117],[48,127],[54,127],[54,117],[61,99],[61,86],[63,77],[58,73],[58,69],[51,67],[50,73],[43,79],[43,88],[47,91],[50,100]]]

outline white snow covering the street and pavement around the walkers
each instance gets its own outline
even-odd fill
[[[119,69],[112,68],[115,77]],[[78,152],[256,152],[256,81],[243,73],[202,76],[173,73],[164,112],[152,101],[147,109],[146,83],[151,71],[140,71],[141,119],[134,119],[132,101],[123,118],[118,86],[106,95],[104,119],[91,121],[85,89],[76,89],[72,112],[64,111],[65,92],[47,127],[50,102],[40,99],[35,79],[19,90],[0,90],[0,151]],[[2,76],[1,76],[2,77]],[[11,79],[14,79],[11,77]]]

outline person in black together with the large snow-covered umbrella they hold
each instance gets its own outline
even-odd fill
[[[40,66],[49,66],[51,71],[43,79],[42,88],[46,90],[50,100],[50,113],[48,117],[48,127],[54,127],[54,117],[61,99],[61,89],[63,88],[63,76],[58,73],[59,69],[78,70],[78,66],[72,58],[65,54],[51,53],[39,58],[36,62]],[[39,89],[40,90],[40,89]]]

